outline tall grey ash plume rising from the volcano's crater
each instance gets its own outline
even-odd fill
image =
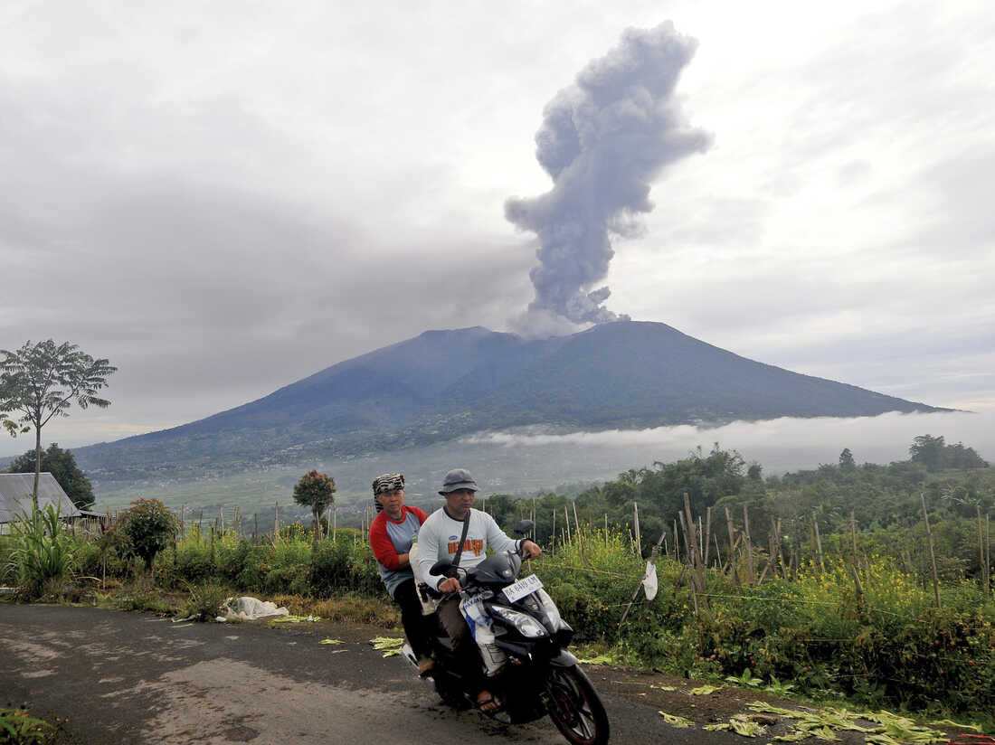
[[[611,237],[639,233],[651,212],[650,183],[670,163],[704,151],[710,135],[688,123],[674,88],[697,42],[667,21],[628,29],[621,43],[589,63],[543,111],[535,155],[553,180],[545,194],[504,203],[504,217],[538,237],[529,276],[532,316],[547,326],[628,320],[604,306],[615,255]],[[544,321],[543,321],[544,319]]]

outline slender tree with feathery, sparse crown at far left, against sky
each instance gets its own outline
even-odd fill
[[[35,430],[35,485],[31,494],[38,508],[38,474],[42,470],[42,428],[53,417],[68,417],[76,402],[81,409],[106,408],[110,402],[97,393],[107,376],[117,370],[105,359],[94,359],[68,341],[52,339],[32,344],[29,339],[14,352],[0,349],[0,412],[17,412],[21,432]]]

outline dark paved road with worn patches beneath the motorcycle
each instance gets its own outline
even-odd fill
[[[290,625],[289,625],[290,626]],[[344,644],[255,624],[173,624],[136,613],[0,605],[0,705],[70,717],[72,741],[105,743],[565,742],[548,719],[505,727],[438,703],[369,630]],[[597,677],[595,676],[597,683]],[[678,730],[655,706],[606,695],[613,742],[731,743]]]

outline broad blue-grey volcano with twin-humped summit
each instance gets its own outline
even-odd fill
[[[598,430],[890,411],[942,410],[755,362],[664,323],[605,323],[532,341],[477,326],[426,331],[258,401],[75,454],[106,480],[341,458],[527,425]]]

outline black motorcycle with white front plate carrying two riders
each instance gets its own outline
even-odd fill
[[[522,520],[514,532],[523,535],[531,528],[531,520]],[[488,686],[501,707],[484,713],[505,724],[523,724],[548,714],[573,745],[604,745],[608,715],[577,658],[567,651],[573,629],[560,617],[538,577],[518,579],[521,564],[520,554],[503,551],[469,571],[453,567],[448,560],[432,567],[432,574],[460,580],[461,610],[476,615],[472,628],[478,633],[487,628],[487,639],[493,637],[483,652],[492,667],[495,660],[500,665]],[[442,596],[436,593],[435,597]],[[402,653],[417,670],[418,659],[411,647],[405,644]],[[443,702],[454,708],[475,706],[470,686],[459,672],[453,643],[441,625],[433,639],[433,658],[435,666],[429,674]]]

